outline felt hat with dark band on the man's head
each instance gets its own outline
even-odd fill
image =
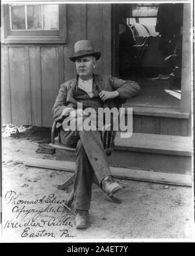
[[[69,59],[75,62],[79,57],[94,56],[96,60],[101,57],[101,52],[94,52],[94,46],[90,40],[81,40],[75,43],[74,56],[70,56]]]

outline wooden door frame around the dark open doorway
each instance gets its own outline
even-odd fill
[[[111,74],[112,76],[119,76],[119,45],[118,45],[118,23],[120,18],[120,8],[116,8],[119,4],[111,5]],[[183,47],[182,48],[182,66],[181,66],[181,103],[177,112],[170,108],[164,109],[164,112],[159,112],[159,116],[170,116],[177,118],[190,118],[191,113],[191,91],[192,91],[192,77],[193,77],[193,48],[192,48],[192,3],[184,3],[183,6]],[[194,65],[193,65],[194,67]],[[135,112],[136,112],[136,107]],[[140,110],[142,108],[142,110]],[[151,106],[151,108],[155,108]],[[168,110],[168,113],[167,113]],[[139,107],[139,114],[151,115],[146,112],[146,107]],[[158,110],[155,108],[154,115],[156,116]],[[175,116],[176,115],[176,116]]]

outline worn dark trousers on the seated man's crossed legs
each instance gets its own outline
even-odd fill
[[[83,131],[60,129],[60,138],[65,146],[76,148],[73,207],[79,210],[89,210],[94,175],[99,185],[101,185],[103,178],[111,175],[101,133],[99,131],[85,131],[85,129]]]

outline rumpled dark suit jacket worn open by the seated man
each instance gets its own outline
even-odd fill
[[[119,97],[109,99],[103,103],[103,107],[118,107],[118,103],[124,102],[126,99],[134,97],[140,91],[140,86],[133,81],[125,81],[109,75],[99,76],[94,74],[94,84],[99,88],[99,91],[118,91]],[[73,98],[73,92],[77,86],[78,76],[60,86],[59,94],[52,108],[52,114],[57,121],[57,128],[62,125],[62,112],[65,108],[77,108],[77,101]]]

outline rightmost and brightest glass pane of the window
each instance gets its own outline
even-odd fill
[[[59,29],[59,5],[43,5],[44,30]]]

